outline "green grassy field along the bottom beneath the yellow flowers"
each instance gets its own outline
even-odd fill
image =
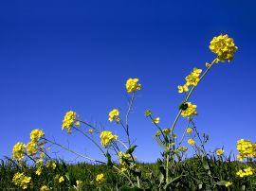
[[[161,182],[161,165],[138,164],[141,169],[141,185],[138,188],[128,188],[129,182],[114,168],[108,165],[89,165],[80,163],[67,165],[63,161],[56,162],[55,170],[44,168],[41,176],[34,174],[34,167],[25,165],[20,167],[9,160],[2,160],[0,165],[1,190],[22,190],[11,181],[17,171],[26,172],[33,182],[28,190],[40,190],[43,184],[53,190],[76,190],[76,181],[82,181],[80,190],[163,190],[158,185]],[[256,177],[239,179],[236,172],[245,164],[238,162],[222,162],[216,158],[191,158],[178,162],[174,170],[174,180],[168,190],[256,190]],[[250,166],[256,167],[255,163]],[[104,174],[104,182],[97,183],[98,174]],[[64,176],[64,182],[55,182],[55,176]],[[232,182],[228,188],[225,181]]]

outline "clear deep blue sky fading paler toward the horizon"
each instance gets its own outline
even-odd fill
[[[99,151],[79,134],[61,130],[64,113],[101,122],[126,111],[127,78],[139,78],[131,136],[139,161],[154,162],[161,150],[155,127],[143,116],[152,109],[170,127],[183,96],[176,86],[193,67],[214,55],[213,36],[228,33],[238,51],[199,84],[197,128],[210,134],[208,149],[236,149],[240,138],[255,139],[256,5],[253,1],[1,1],[0,157],[28,141],[32,129],[97,158]],[[178,124],[181,126],[181,124]],[[177,133],[184,127],[178,127]],[[58,156],[76,157],[59,148]]]

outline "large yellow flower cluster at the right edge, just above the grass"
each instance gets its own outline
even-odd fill
[[[243,159],[247,157],[256,157],[256,143],[252,144],[250,140],[238,140],[236,148],[239,151],[237,158],[240,161],[243,161]]]

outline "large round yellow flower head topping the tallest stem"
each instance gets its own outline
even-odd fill
[[[233,39],[228,34],[213,37],[210,41],[210,51],[217,55],[218,61],[232,61],[237,50]]]

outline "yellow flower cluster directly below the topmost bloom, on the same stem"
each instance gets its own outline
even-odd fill
[[[191,74],[185,78],[186,83],[183,86],[181,85],[178,86],[178,93],[188,92],[190,86],[196,86],[200,80],[199,77],[201,73],[202,73],[201,69],[193,68]]]

